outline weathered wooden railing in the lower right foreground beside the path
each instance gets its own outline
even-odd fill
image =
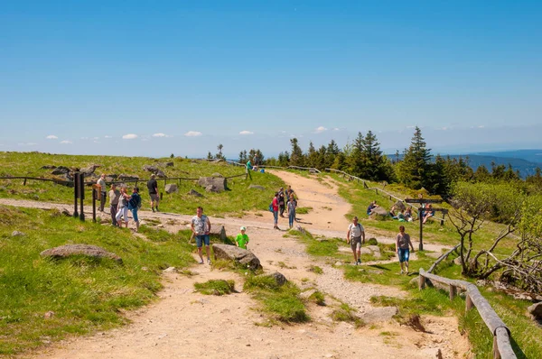
[[[418,288],[423,290],[425,288],[425,281],[436,281],[448,286],[450,292],[450,300],[457,295],[457,289],[460,288],[466,291],[465,298],[465,311],[476,307],[480,313],[480,317],[483,319],[486,326],[490,329],[493,336],[493,358],[513,359],[516,358],[516,354],[510,345],[510,330],[499,318],[495,310],[491,308],[487,299],[483,298],[474,284],[468,281],[457,281],[448,278],[440,277],[429,272],[425,272],[420,269],[420,277]]]

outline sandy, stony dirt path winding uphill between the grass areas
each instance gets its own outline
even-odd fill
[[[300,206],[313,207],[308,215],[302,216],[304,227],[317,234],[345,236],[348,221],[343,214],[350,207],[337,196],[332,181],[326,184],[292,173],[275,174],[292,184],[300,197]],[[70,210],[66,205],[32,201],[1,199],[0,204],[66,207]],[[145,211],[140,216],[160,219],[166,229],[173,231],[186,226],[192,217]],[[32,357],[430,358],[440,349],[444,358],[459,358],[468,351],[467,340],[459,334],[455,318],[425,318],[427,333],[399,326],[391,319],[395,308],[374,308],[369,299],[374,295],[402,297],[405,293],[395,288],[345,281],[340,269],[308,256],[303,244],[283,236],[285,231],[273,230],[271,217],[270,213],[264,213],[242,219],[211,218],[211,221],[223,224],[229,234],[237,233],[238,226],[248,226],[249,249],[260,259],[266,272],[282,272],[302,289],[318,289],[326,294],[327,306],[309,307],[313,319],[310,323],[257,326],[266,320],[257,310],[258,303],[241,291],[243,277],[213,271],[207,264],[194,265],[191,270],[196,274],[192,276],[164,273],[160,300],[127,313],[131,325],[93,336],[73,337]],[[168,225],[171,219],[174,226]],[[281,222],[285,226],[287,220],[281,218]],[[323,273],[309,272],[311,265],[322,267]],[[194,282],[210,279],[232,279],[239,292],[215,297],[193,291]],[[341,302],[357,308],[368,325],[357,329],[347,323],[334,322],[330,315]]]

